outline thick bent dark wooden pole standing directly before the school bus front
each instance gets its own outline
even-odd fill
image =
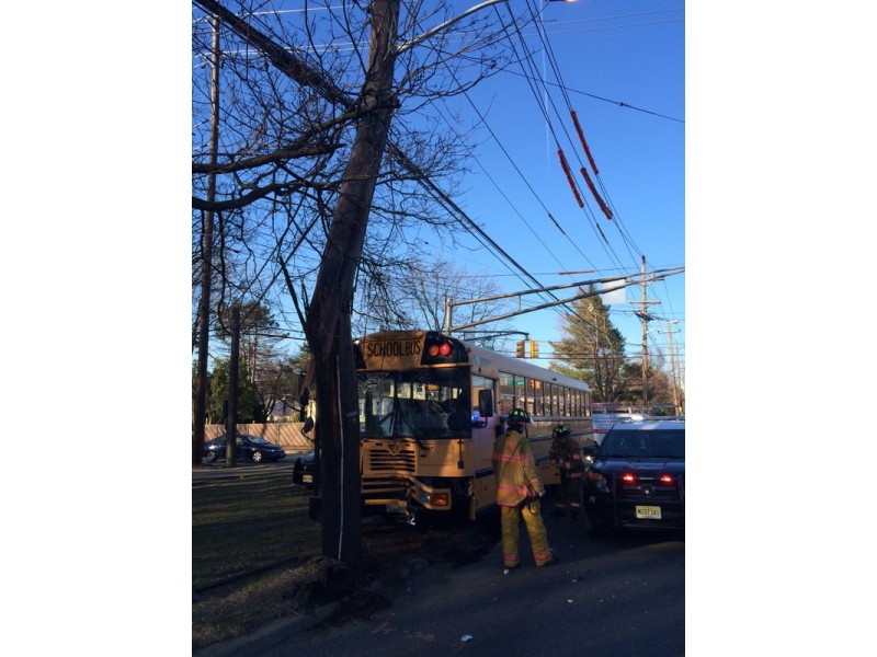
[[[362,558],[360,415],[351,336],[353,284],[387,145],[399,0],[372,5],[360,123],[305,327],[317,362],[317,440],[322,450],[322,552],[358,568]]]

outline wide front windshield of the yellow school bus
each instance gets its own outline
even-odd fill
[[[468,369],[360,374],[360,439],[459,438],[471,431]]]

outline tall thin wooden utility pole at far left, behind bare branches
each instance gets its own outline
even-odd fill
[[[216,171],[219,152],[219,16],[213,15],[213,74],[210,78],[210,169]],[[207,176],[207,200],[216,200],[216,173]],[[207,422],[207,357],[210,344],[210,284],[213,283],[214,212],[203,215],[201,233],[201,303],[198,304],[198,362],[195,376],[195,408],[192,413],[192,464],[201,464],[204,425]]]

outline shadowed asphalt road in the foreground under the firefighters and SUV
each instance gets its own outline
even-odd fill
[[[522,527],[524,561],[509,574],[497,544],[476,563],[430,566],[415,573],[392,606],[368,620],[311,627],[247,654],[685,654],[685,542],[681,534],[591,539],[581,522],[547,516],[546,527],[561,560],[556,565],[533,565]]]

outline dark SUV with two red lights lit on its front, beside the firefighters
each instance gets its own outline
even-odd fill
[[[584,476],[589,532],[685,528],[685,422],[614,425]]]

